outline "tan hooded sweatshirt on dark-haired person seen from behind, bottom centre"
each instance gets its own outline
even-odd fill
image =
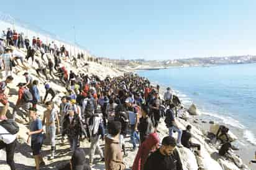
[[[104,154],[106,170],[123,170],[126,168],[122,161],[119,141],[114,140],[111,135],[106,136]]]

